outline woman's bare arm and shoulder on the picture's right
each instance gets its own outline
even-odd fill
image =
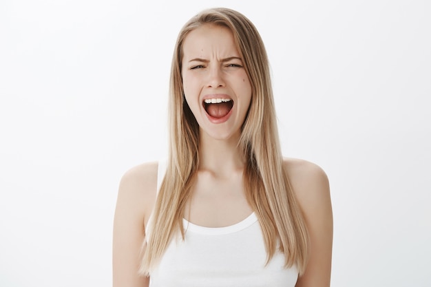
[[[289,178],[310,236],[310,256],[296,287],[330,286],[333,213],[326,173],[316,164],[289,164]]]

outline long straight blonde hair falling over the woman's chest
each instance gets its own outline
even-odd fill
[[[189,32],[206,24],[231,30],[251,82],[251,104],[239,147],[246,158],[244,190],[262,228],[267,263],[279,250],[285,255],[285,267],[295,265],[302,274],[308,258],[308,233],[283,167],[268,57],[253,23],[227,8],[200,12],[185,24],[176,41],[169,91],[169,160],[140,273],[151,273],[178,231],[184,239],[182,218],[199,164],[199,127],[183,96],[182,44]]]

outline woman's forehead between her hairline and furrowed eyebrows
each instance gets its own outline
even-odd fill
[[[195,57],[240,56],[231,30],[212,24],[204,24],[189,32],[182,45],[182,54],[184,60]]]

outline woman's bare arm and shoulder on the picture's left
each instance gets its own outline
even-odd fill
[[[120,180],[114,215],[112,240],[113,286],[148,286],[138,275],[140,251],[145,239],[145,222],[154,204],[157,164],[143,164],[125,173]]]

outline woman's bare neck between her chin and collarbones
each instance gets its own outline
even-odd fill
[[[244,169],[244,156],[238,142],[240,135],[224,140],[211,138],[204,131],[200,133],[199,169],[228,176],[234,171]]]

